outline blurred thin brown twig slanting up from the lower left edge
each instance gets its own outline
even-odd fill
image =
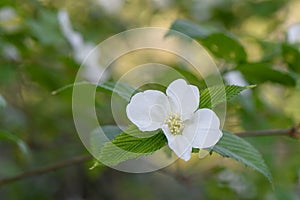
[[[3,179],[0,179],[0,187],[3,186],[3,185],[6,185],[6,184],[12,183],[12,182],[21,180],[21,179],[46,174],[48,172],[55,171],[57,169],[61,169],[61,168],[64,168],[64,167],[68,167],[68,166],[76,165],[76,164],[79,164],[79,163],[83,163],[83,162],[86,162],[86,161],[91,160],[91,159],[92,159],[92,156],[90,156],[90,155],[76,156],[76,157],[71,158],[69,160],[64,160],[64,161],[61,161],[61,162],[58,162],[58,163],[55,163],[55,164],[52,164],[52,165],[48,165],[48,166],[45,166],[45,167],[33,169],[31,171],[26,171],[26,172],[23,172],[23,173],[21,173],[19,175],[16,175],[16,176],[12,176],[12,177],[9,177],[9,178],[3,178]]]

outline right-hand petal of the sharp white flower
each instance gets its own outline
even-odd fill
[[[195,148],[212,147],[223,135],[218,116],[206,108],[198,110],[191,120],[185,122],[182,134],[189,138]]]

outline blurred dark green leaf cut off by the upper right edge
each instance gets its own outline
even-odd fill
[[[297,49],[297,47],[283,44],[281,46],[281,51],[282,57],[290,69],[300,73],[300,51]]]

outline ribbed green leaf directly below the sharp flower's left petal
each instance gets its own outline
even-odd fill
[[[99,161],[114,166],[128,159],[149,155],[165,146],[166,141],[165,135],[160,130],[141,132],[137,127],[130,126],[112,142],[104,145]]]

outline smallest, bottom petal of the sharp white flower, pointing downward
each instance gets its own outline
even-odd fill
[[[173,135],[167,125],[164,125],[162,130],[167,137],[169,147],[174,153],[181,159],[188,161],[192,152],[192,143],[189,138],[184,135]]]

